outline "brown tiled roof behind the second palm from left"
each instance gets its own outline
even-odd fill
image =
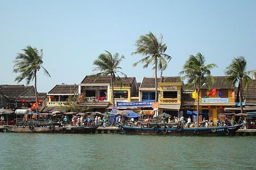
[[[129,86],[133,84],[135,77],[120,77],[114,78],[113,83],[114,86]],[[81,84],[110,84],[110,75],[108,76],[93,76],[93,75],[86,75],[85,78],[82,80]]]

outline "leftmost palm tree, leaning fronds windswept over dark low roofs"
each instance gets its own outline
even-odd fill
[[[37,94],[37,86],[36,86],[36,73],[41,69],[44,70],[44,73],[49,75],[48,71],[42,66],[43,64],[43,50],[40,51],[36,48],[32,48],[31,46],[27,46],[22,49],[24,53],[18,53],[15,58],[13,72],[20,73],[15,78],[15,82],[21,82],[26,79],[27,85],[30,84],[32,80],[35,80],[35,98],[36,102],[38,102],[38,94]]]

